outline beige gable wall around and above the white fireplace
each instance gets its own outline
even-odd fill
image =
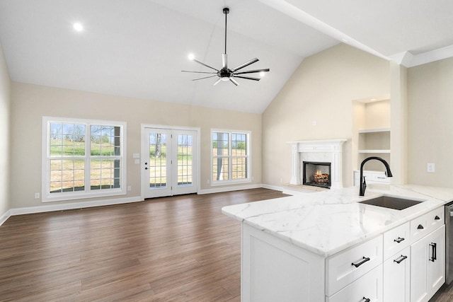
[[[287,141],[348,139],[343,185],[352,185],[352,100],[389,93],[389,62],[372,54],[340,44],[304,59],[263,113],[263,183],[289,182]]]

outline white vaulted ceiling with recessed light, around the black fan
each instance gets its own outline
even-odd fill
[[[239,86],[181,70],[270,68]],[[0,0],[13,81],[260,113],[305,57],[340,42],[404,66],[453,56],[451,0]],[[77,32],[73,24],[84,29]]]

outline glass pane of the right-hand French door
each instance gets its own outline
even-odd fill
[[[192,185],[192,136],[178,134],[178,185]]]

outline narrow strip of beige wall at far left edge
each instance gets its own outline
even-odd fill
[[[8,67],[0,43],[0,220],[9,205],[10,91]]]

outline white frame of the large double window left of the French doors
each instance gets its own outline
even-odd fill
[[[55,156],[50,156],[50,124],[67,123],[83,124],[85,126],[85,154],[80,156],[84,163],[84,190],[71,192],[50,192],[50,161]],[[120,127],[120,155],[119,156],[91,156],[91,126]],[[127,194],[127,123],[109,120],[87,120],[69,117],[42,117],[42,202],[59,202],[71,199],[86,199],[93,197],[110,197]],[[64,156],[62,156],[64,158]],[[67,159],[74,159],[68,156]],[[120,187],[101,190],[91,189],[91,161],[93,159],[119,159],[120,160]]]

